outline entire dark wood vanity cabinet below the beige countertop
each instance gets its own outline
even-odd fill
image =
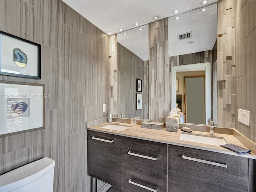
[[[256,160],[87,131],[88,175],[125,192],[256,192]]]

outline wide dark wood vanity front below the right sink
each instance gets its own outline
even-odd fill
[[[248,192],[248,158],[168,145],[168,192]]]

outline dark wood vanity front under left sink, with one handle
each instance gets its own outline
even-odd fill
[[[87,131],[88,175],[122,189],[122,137]]]

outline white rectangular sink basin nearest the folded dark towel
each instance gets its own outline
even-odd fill
[[[179,140],[183,141],[191,141],[196,143],[203,143],[203,144],[209,144],[209,145],[223,145],[227,144],[226,140],[223,137],[211,137],[210,135],[200,135],[200,134],[186,134],[182,133],[180,134]]]

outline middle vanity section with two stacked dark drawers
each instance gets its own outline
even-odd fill
[[[167,144],[122,138],[123,190],[166,192]]]

